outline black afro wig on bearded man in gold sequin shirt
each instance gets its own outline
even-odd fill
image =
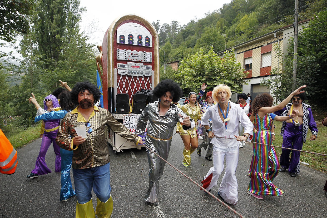
[[[77,82],[70,92],[71,101],[73,104],[78,105],[77,95],[79,92],[84,92],[84,90],[88,90],[90,93],[93,94],[94,103],[98,102],[101,96],[101,92],[99,89],[91,82],[84,81],[84,82]]]

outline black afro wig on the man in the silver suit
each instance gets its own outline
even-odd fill
[[[171,79],[164,79],[154,88],[153,94],[160,98],[164,93],[170,92],[173,96],[173,102],[178,102],[183,95],[180,85]]]

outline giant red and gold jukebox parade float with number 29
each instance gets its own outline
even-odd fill
[[[98,49],[100,54],[95,59],[102,72],[104,108],[134,132],[142,110],[154,101],[149,97],[150,90],[159,82],[158,34],[142,17],[125,15],[112,22]],[[144,141],[145,135],[141,137]],[[144,146],[126,141],[112,130],[106,138],[116,154]]]

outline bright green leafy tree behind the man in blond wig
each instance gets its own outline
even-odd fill
[[[194,55],[185,57],[175,76],[182,89],[193,91],[204,82],[208,84],[208,90],[222,83],[228,85],[232,92],[242,92],[242,85],[246,84],[246,73],[243,73],[240,63],[235,63],[233,50],[220,57],[212,46],[208,53],[200,49]]]

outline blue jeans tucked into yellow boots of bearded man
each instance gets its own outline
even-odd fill
[[[109,183],[110,162],[97,167],[87,169],[74,169],[74,184],[78,204],[85,204],[92,198],[92,187],[96,196],[102,202],[110,198],[111,186]]]

